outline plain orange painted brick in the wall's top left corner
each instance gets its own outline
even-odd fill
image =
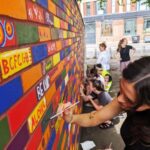
[[[25,1],[20,0],[1,1],[0,14],[5,14],[7,16],[11,16],[18,19],[27,19]]]

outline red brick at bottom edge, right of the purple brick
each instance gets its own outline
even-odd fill
[[[26,150],[36,150],[38,148],[38,145],[42,139],[42,129],[41,126],[39,126],[35,132],[33,133],[29,143],[26,146]]]

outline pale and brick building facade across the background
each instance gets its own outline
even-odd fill
[[[97,0],[82,0],[79,7],[85,23],[85,42],[105,41],[116,46],[126,37],[129,43],[150,42],[150,8],[142,1],[107,0],[103,9]]]

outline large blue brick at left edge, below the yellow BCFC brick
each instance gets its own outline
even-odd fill
[[[9,94],[8,94],[9,93]],[[0,115],[11,107],[22,96],[23,89],[20,77],[0,86]]]

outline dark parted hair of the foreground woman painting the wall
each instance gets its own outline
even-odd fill
[[[135,82],[138,102],[150,105],[150,56],[130,63],[123,71],[123,78]]]

